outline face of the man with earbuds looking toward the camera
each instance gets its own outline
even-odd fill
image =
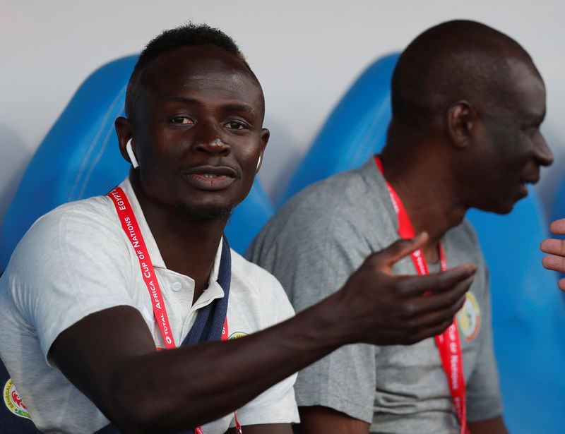
[[[225,50],[195,45],[148,64],[142,88],[133,140],[143,194],[197,219],[227,217],[268,140],[256,79]]]

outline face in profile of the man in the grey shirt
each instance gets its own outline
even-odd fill
[[[506,89],[484,109],[475,146],[476,198],[482,210],[507,213],[528,195],[540,165],[552,153],[540,132],[545,116],[545,86],[533,66],[511,59]]]

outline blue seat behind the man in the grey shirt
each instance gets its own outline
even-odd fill
[[[392,54],[377,60],[352,85],[299,165],[283,201],[310,183],[359,167],[379,152],[391,118],[390,80],[397,59]],[[565,211],[559,215],[565,217]],[[513,433],[560,432],[565,306],[557,273],[540,264],[538,246],[547,237],[547,222],[537,195],[530,189],[509,215],[472,210],[468,218],[489,264],[506,425]]]

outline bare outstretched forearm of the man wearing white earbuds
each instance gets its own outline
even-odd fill
[[[345,343],[343,327],[331,315],[340,311],[339,303],[335,295],[248,337],[130,360],[112,381],[112,415],[128,432],[163,430],[164,423],[182,429],[229,414]]]

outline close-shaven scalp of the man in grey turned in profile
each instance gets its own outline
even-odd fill
[[[508,92],[516,60],[539,75],[518,42],[487,25],[454,20],[426,30],[408,45],[394,70],[393,124],[425,130],[460,100],[476,109],[496,106]]]

